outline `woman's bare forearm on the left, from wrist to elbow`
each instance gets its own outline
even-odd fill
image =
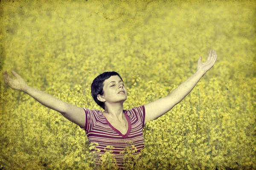
[[[50,94],[47,94],[44,91],[40,91],[27,85],[23,92],[29,94],[29,96],[32,96],[35,100],[37,100],[39,103],[46,106],[47,108],[53,109],[60,113],[64,113],[66,111],[66,102]]]

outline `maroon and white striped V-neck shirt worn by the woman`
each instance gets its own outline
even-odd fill
[[[105,118],[102,111],[90,110],[83,108],[85,112],[85,126],[81,127],[85,130],[89,144],[91,142],[97,142],[99,146],[96,146],[100,152],[93,155],[95,163],[101,165],[101,156],[105,153],[107,146],[113,146],[113,158],[116,159],[116,163],[119,167],[124,167],[124,153],[120,153],[128,145],[134,145],[137,148],[137,152],[134,155],[141,152],[144,148],[143,127],[145,121],[145,107],[139,106],[129,110],[123,110],[125,118],[128,121],[128,130],[125,135],[119,132],[113,127],[110,122]],[[90,150],[92,152],[93,150]]]

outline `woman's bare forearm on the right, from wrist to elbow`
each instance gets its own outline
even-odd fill
[[[190,93],[190,91],[192,91],[204,74],[205,73],[203,71],[197,71],[191,77],[186,79],[186,81],[181,83],[177,88],[175,88],[168,96],[172,96],[172,99],[174,99],[175,103],[178,104]]]

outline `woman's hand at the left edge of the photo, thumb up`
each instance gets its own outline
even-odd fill
[[[15,71],[12,71],[12,74],[17,79],[12,79],[8,75],[7,71],[3,71],[3,78],[4,78],[4,82],[6,83],[6,85],[9,85],[12,89],[25,92],[28,87],[28,85],[26,84],[26,81]]]

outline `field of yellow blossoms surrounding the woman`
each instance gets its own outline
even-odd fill
[[[211,49],[214,67],[147,123],[142,158],[129,145],[125,169],[256,169],[255,9],[253,0],[0,1],[0,170],[117,169],[111,147],[96,167],[84,130],[9,88],[3,70],[99,110],[90,85],[116,71],[130,109],[168,95]]]

